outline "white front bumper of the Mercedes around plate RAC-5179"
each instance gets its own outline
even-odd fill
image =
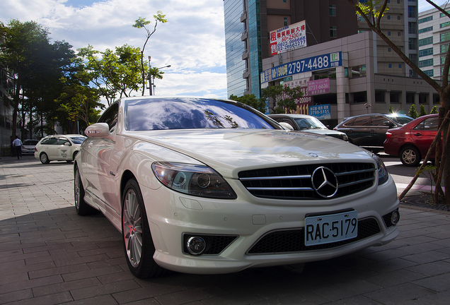
[[[238,194],[233,201],[185,196],[166,187],[142,188],[147,217],[156,248],[154,260],[161,267],[183,273],[233,273],[250,267],[320,261],[369,246],[387,244],[398,236],[396,225],[386,226],[383,215],[398,209],[396,186],[386,184],[352,196],[328,201],[282,201],[255,198],[239,181],[228,181]],[[335,244],[328,249],[251,253],[267,234],[301,230],[307,214],[323,215],[357,210],[358,220],[378,224],[379,232],[357,241]],[[235,236],[231,244],[215,254],[192,256],[183,251],[183,236]],[[184,247],[185,248],[185,247]],[[295,248],[295,247],[294,247]],[[327,248],[327,247],[325,247]]]

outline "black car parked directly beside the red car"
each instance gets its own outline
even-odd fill
[[[401,127],[412,121],[405,114],[362,114],[344,119],[337,124],[335,131],[347,133],[348,140],[372,152],[383,150],[386,131]]]

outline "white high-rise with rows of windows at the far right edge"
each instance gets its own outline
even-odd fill
[[[449,43],[450,18],[437,8],[420,12],[419,68],[431,78],[442,79],[442,69]]]

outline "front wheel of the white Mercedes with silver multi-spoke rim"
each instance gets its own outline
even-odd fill
[[[138,278],[165,273],[153,259],[155,247],[137,181],[129,179],[122,197],[122,241],[128,268]]]

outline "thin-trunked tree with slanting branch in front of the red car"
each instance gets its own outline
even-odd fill
[[[439,85],[436,80],[430,78],[425,74],[413,61],[409,59],[408,56],[406,56],[401,49],[394,44],[389,38],[384,35],[383,31],[381,30],[381,20],[383,17],[383,14],[388,10],[387,4],[388,0],[368,0],[364,3],[359,3],[359,0],[348,0],[354,8],[356,8],[357,14],[359,16],[362,16],[364,20],[366,21],[367,25],[369,25],[369,28],[376,33],[381,39],[388,44],[391,49],[400,56],[400,59],[402,59],[405,64],[408,64],[410,68],[412,68],[412,71],[415,71],[418,76],[420,76],[423,80],[425,80],[429,85],[431,85],[434,90],[436,90],[439,93],[439,99],[441,102],[441,108],[439,109],[439,129],[437,133],[436,140],[436,159],[435,159],[435,165],[437,167],[437,172],[434,174],[435,177],[435,185],[436,185],[436,191],[434,193],[434,200],[439,202],[442,201],[442,203],[445,203],[447,205],[450,205],[450,130],[449,130],[449,114],[450,114],[450,84],[449,84],[449,67],[450,67],[450,48],[446,51],[445,55],[445,61],[444,61],[444,67],[442,68],[442,85]],[[450,14],[447,13],[446,10],[443,8],[437,6],[437,4],[434,4],[433,1],[426,0],[429,4],[434,6],[434,8],[437,8],[442,13],[442,16],[446,16],[447,18],[450,18]],[[441,138],[441,132],[444,134],[444,140],[442,143],[442,150],[440,148],[440,138]],[[430,150],[433,149],[433,147],[430,148]],[[441,152],[442,151],[442,152]],[[429,154],[427,154],[429,155]],[[427,156],[425,157],[425,160],[427,160]],[[425,162],[423,162],[422,167],[425,166]],[[417,174],[415,176],[415,179],[417,179]],[[413,179],[410,183],[410,186],[408,186],[405,191],[403,191],[402,194],[400,194],[399,198],[403,198],[404,194],[410,189],[412,184],[414,184],[415,179]],[[444,187],[445,192],[441,188],[441,181],[444,180]]]

